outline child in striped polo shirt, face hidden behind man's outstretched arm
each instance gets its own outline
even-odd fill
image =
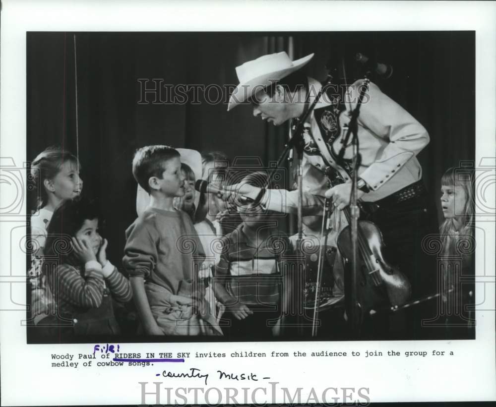
[[[265,185],[267,175],[248,174],[242,182]],[[214,273],[215,295],[225,305],[223,318],[229,321],[225,335],[243,339],[279,336],[292,301],[291,243],[276,229],[273,214],[256,202],[238,206],[238,212],[243,222],[222,238],[223,250]]]

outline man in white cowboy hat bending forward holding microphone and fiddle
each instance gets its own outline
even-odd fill
[[[274,125],[301,119],[322,86],[302,72],[312,57],[313,54],[291,61],[281,52],[238,66],[240,84],[231,95],[228,111],[249,102],[253,116]],[[324,197],[331,198],[339,210],[350,203],[353,146],[346,146],[344,162],[338,164],[336,156],[362,85],[363,80],[352,84],[344,101],[323,93],[307,117],[303,134],[304,216],[321,213]],[[426,269],[427,263],[423,262],[421,241],[435,231],[437,220],[433,204],[427,201],[422,168],[415,157],[429,143],[429,135],[413,116],[372,83],[360,109],[357,133],[362,157],[358,169],[361,219],[377,224],[387,259],[400,266],[412,284],[412,297],[419,297],[432,290],[435,279],[435,268]],[[342,183],[330,187],[328,177]],[[267,210],[297,211],[298,191],[262,190],[245,184],[232,185],[227,190],[257,199]],[[427,280],[432,283],[427,284],[426,290]],[[420,320],[415,319],[412,329],[419,328]],[[418,332],[415,336],[419,336]]]

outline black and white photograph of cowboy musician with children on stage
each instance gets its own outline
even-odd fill
[[[26,40],[28,341],[476,337],[475,32]]]

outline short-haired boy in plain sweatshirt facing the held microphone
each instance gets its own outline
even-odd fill
[[[185,194],[179,152],[142,147],[132,173],[150,194],[150,204],[126,230],[123,259],[144,333],[219,335],[213,317],[206,313],[200,319],[197,312],[208,309],[193,267],[203,261],[203,248],[189,216],[174,208],[174,198]]]

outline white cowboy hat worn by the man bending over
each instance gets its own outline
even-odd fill
[[[236,67],[240,84],[229,98],[227,110],[234,109],[238,104],[246,102],[255,92],[272,85],[290,73],[305,66],[313,54],[291,61],[284,51],[264,55],[260,58],[245,62]]]

